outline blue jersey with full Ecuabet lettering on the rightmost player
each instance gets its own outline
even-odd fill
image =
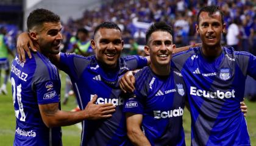
[[[191,145],[250,145],[240,102],[246,76],[256,78],[256,57],[222,47],[207,60],[201,47],[172,58],[181,71],[191,108]]]

